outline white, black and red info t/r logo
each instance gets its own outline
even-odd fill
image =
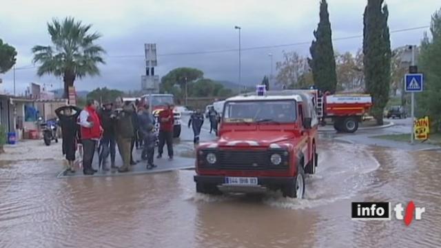
[[[426,211],[425,207],[415,207],[412,200],[407,204],[404,215],[403,210],[401,203],[393,208],[395,218],[404,220],[407,226],[411,225],[413,218],[421,220],[422,213]],[[353,220],[391,220],[391,203],[352,203],[351,216]]]

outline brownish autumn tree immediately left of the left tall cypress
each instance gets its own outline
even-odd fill
[[[314,84],[307,59],[296,52],[283,52],[283,59],[276,63],[278,84],[285,88],[303,88]]]

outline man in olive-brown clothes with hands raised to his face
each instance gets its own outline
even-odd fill
[[[130,169],[130,155],[132,138],[134,135],[132,114],[134,106],[132,104],[124,104],[121,97],[116,98],[116,109],[112,118],[116,120],[115,134],[116,143],[118,144],[119,153],[123,158],[123,166],[118,169],[118,172],[128,172]]]

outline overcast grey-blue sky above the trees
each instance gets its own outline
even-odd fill
[[[333,38],[362,34],[362,14],[366,0],[328,0]],[[441,8],[440,0],[387,0],[389,28],[401,30],[429,25],[431,14]],[[280,48],[243,50],[242,81],[256,84],[269,74],[268,54],[281,59],[283,50],[309,54],[309,42],[318,23],[318,0],[1,0],[0,39],[17,51],[17,92],[30,82],[61,87],[61,79],[36,76],[32,66],[33,45],[48,45],[47,22],[52,18],[75,17],[92,23],[92,30],[103,34],[99,43],[107,54],[101,65],[101,76],[76,81],[78,90],[111,87],[139,90],[144,72],[143,44],[156,43],[158,68],[165,75],[173,68],[185,66],[203,70],[205,77],[238,81],[238,52],[168,55],[178,52],[200,52],[238,48],[238,32],[242,27],[242,48],[301,43]],[[391,34],[392,47],[420,43],[428,29]],[[356,52],[362,39],[334,41],[338,52]],[[0,75],[0,90],[12,92],[12,70]]]

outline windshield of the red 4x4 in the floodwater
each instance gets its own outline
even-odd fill
[[[225,123],[293,123],[296,101],[240,101],[225,103]]]

